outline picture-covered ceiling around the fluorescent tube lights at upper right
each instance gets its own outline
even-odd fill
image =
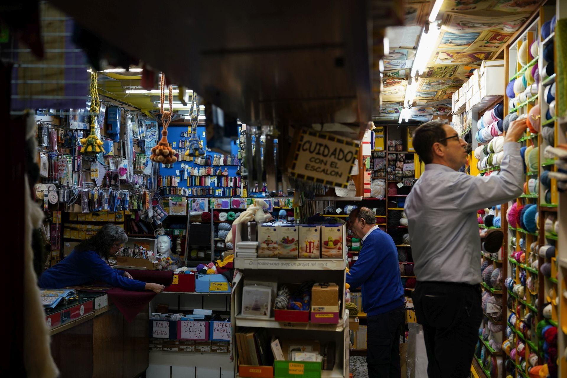
[[[451,96],[483,60],[503,58],[508,40],[538,9],[540,0],[445,0],[437,16],[441,33],[421,75],[412,120],[450,113]],[[390,56],[384,58],[382,108],[375,121],[397,123],[422,28],[434,1],[405,2],[405,26],[389,27]],[[379,84],[379,83],[378,83]],[[376,84],[375,84],[376,85]]]

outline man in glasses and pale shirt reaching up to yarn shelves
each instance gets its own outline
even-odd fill
[[[524,130],[525,119],[510,125],[500,172],[486,177],[458,172],[466,163],[467,143],[447,120],[426,122],[413,135],[425,172],[404,211],[417,277],[412,297],[424,328],[429,378],[469,376],[483,316],[476,211],[522,194],[517,141]]]

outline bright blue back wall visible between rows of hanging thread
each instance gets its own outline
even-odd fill
[[[177,152],[179,152],[179,155],[182,155],[184,153],[184,149],[179,148],[179,142],[180,141],[187,141],[189,139],[189,137],[181,137],[181,133],[183,132],[187,132],[190,129],[189,125],[183,125],[183,126],[177,126],[177,125],[170,125],[167,128],[167,141],[170,143],[170,146],[172,148],[174,148],[174,150],[176,150]],[[206,149],[206,126],[205,125],[198,125],[197,126],[197,136],[199,137],[199,139],[201,139],[201,142],[203,143],[203,147],[205,147]],[[240,127],[239,127],[240,130]],[[240,133],[239,133],[240,134]],[[234,154],[235,156],[238,156],[238,151],[239,151],[239,146],[238,146],[238,141],[232,141],[231,142],[231,154]],[[173,146],[173,143],[175,143],[175,147]],[[212,158],[214,158],[214,155],[220,155],[218,152],[213,152],[213,151],[206,151],[207,155],[211,155],[211,160]],[[178,160],[176,163],[174,163],[174,167],[173,168],[166,168],[164,167],[163,164],[159,165],[159,175],[162,176],[177,176],[179,177],[180,180],[179,184],[177,185],[179,188],[197,188],[198,186],[196,185],[187,185],[187,180],[183,179],[183,171],[181,169],[181,164],[185,165],[189,165],[189,167],[197,167],[197,168],[201,168],[201,167],[210,167],[211,165],[200,165],[200,164],[195,164],[194,162],[187,162],[184,160]],[[229,171],[229,177],[234,177],[236,176],[236,171],[238,170],[238,166],[236,165],[214,165],[213,166],[214,169],[218,169],[218,167],[221,167],[222,170],[225,169],[225,167],[228,169]],[[176,175],[177,171],[180,172],[180,175]],[[189,175],[188,175],[189,176]],[[163,186],[162,186],[163,187]],[[164,193],[164,190],[161,190],[160,193]],[[189,196],[189,197],[204,197],[204,196]],[[222,197],[222,196],[217,196],[217,197]]]

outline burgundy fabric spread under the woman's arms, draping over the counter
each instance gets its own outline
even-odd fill
[[[170,284],[174,281],[174,273],[172,271],[138,269],[124,270],[130,273],[132,278],[142,282],[158,283],[170,286]],[[150,303],[150,300],[156,296],[153,291],[132,291],[124,290],[119,287],[113,287],[111,290],[108,290],[107,293],[116,305],[116,308],[120,310],[128,322],[134,320],[136,315],[138,315],[138,313],[142,311],[148,303]]]

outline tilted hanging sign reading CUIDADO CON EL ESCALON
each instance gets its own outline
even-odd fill
[[[360,148],[358,142],[314,130],[300,130],[293,147],[294,152],[287,162],[291,175],[323,185],[348,186],[350,168]]]

